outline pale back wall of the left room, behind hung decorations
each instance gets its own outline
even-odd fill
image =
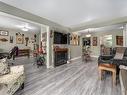
[[[0,28],[0,29],[2,29],[2,28]],[[29,41],[31,41],[31,38],[34,37],[35,33],[31,33],[30,31],[23,32],[23,31],[12,30],[12,29],[4,29],[4,30],[8,30],[9,35],[8,36],[0,36],[0,38],[6,38],[8,41],[7,42],[0,41],[0,49],[2,49],[4,51],[10,51],[14,46],[18,46],[20,49],[25,49],[25,48],[33,49],[33,43],[31,43],[31,42],[30,43],[28,42],[28,46],[25,46],[25,43],[26,43],[25,37],[29,37]],[[16,33],[18,33],[18,32],[20,32],[21,34],[24,34],[24,44],[16,44]],[[13,36],[13,43],[10,43],[10,36]]]

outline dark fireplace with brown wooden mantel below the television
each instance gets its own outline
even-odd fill
[[[59,48],[55,49],[55,66],[60,66],[66,64],[68,60],[68,49],[67,48]]]

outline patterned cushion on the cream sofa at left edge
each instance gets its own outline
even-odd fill
[[[8,74],[10,72],[10,68],[8,66],[8,62],[6,58],[0,59],[0,76]]]

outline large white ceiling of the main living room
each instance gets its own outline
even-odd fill
[[[127,16],[127,0],[0,0],[64,26]]]

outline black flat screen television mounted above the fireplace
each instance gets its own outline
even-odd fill
[[[54,44],[67,44],[67,34],[55,31]]]

